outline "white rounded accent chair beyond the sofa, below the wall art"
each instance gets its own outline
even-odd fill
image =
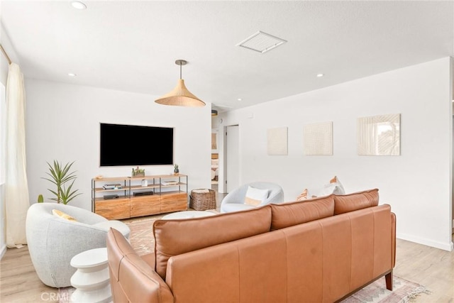
[[[252,206],[245,204],[245,196],[246,192],[248,192],[248,187],[268,189],[270,190],[270,192],[268,194],[268,197],[262,200],[262,202],[258,206]],[[243,184],[240,187],[229,192],[221,202],[221,213],[244,211],[246,209],[253,209],[254,207],[260,207],[270,203],[282,202],[284,202],[284,191],[278,184],[272,182],[252,182]]]

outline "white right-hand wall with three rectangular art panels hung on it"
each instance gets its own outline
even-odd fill
[[[446,57],[221,114],[220,128],[240,125],[240,182],[277,182],[286,201],[304,188],[316,194],[334,175],[347,192],[377,187],[397,214],[399,238],[452,250],[450,66]],[[399,113],[401,155],[358,156],[356,119]],[[304,124],[323,121],[333,121],[333,155],[305,156]],[[267,128],[280,126],[289,129],[289,154],[269,156]]]

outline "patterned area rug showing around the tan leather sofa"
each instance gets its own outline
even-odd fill
[[[131,229],[129,241],[138,255],[153,253],[155,248],[153,222],[157,219],[160,219],[160,217],[125,222]],[[70,302],[69,298],[72,292],[74,292],[73,287],[60,288],[60,303]],[[382,277],[362,288],[362,290],[355,292],[355,294],[344,299],[341,303],[406,303],[413,301],[412,299],[415,299],[421,293],[429,294],[430,292],[423,285],[394,275],[394,290],[392,292],[386,289],[384,277]]]

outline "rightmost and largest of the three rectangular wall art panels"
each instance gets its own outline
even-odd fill
[[[400,155],[400,114],[357,121],[358,155]]]

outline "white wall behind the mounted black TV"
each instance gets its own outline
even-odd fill
[[[204,108],[163,106],[157,96],[82,87],[56,82],[26,79],[26,144],[28,185],[31,203],[38,194],[50,201],[50,182],[43,180],[47,162],[75,161],[74,187],[83,194],[73,206],[91,209],[91,180],[96,175],[117,177],[131,175],[132,167],[99,167],[99,123],[164,126],[174,129],[174,160],[182,174],[189,175],[193,188],[210,188],[211,111]],[[118,138],[118,144],[135,148],[159,148],[159,142],[144,138],[131,142]],[[146,175],[170,174],[172,165],[147,165]]]

